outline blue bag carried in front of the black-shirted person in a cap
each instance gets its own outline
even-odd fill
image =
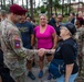
[[[49,72],[53,78],[60,78],[65,71],[64,61],[61,59],[52,59],[49,66]]]

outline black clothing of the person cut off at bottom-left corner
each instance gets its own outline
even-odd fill
[[[4,68],[3,51],[1,49],[0,49],[0,75],[2,82],[15,82],[10,75],[10,70],[8,68]]]

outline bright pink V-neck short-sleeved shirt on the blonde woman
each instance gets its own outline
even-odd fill
[[[40,33],[40,26],[36,26],[34,34],[38,39],[38,48],[51,49],[53,47],[53,33],[55,33],[55,30],[51,25],[46,25],[46,30],[43,33]]]

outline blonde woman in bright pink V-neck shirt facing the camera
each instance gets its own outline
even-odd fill
[[[38,49],[40,49],[40,48],[54,49],[56,47],[57,38],[56,38],[55,30],[51,25],[48,25],[45,14],[40,15],[40,25],[34,28],[34,35],[38,40],[38,43],[36,43]],[[39,59],[40,59],[39,78],[42,78],[43,77],[44,56],[39,57]],[[46,59],[50,62],[52,60],[52,54],[46,54]],[[48,79],[50,79],[50,78],[51,77],[49,75]]]

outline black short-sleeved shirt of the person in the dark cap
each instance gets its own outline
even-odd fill
[[[62,40],[54,54],[54,58],[63,59],[65,65],[74,63],[72,74],[78,71],[76,57],[77,57],[77,44],[72,38]]]

